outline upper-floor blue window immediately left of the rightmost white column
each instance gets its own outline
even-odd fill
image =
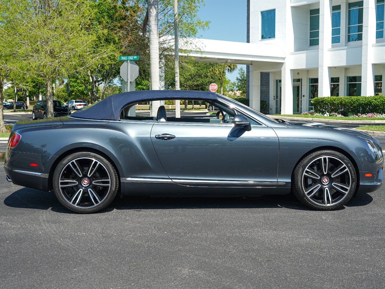
[[[348,42],[362,40],[363,1],[349,3]]]

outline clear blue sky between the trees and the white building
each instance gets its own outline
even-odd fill
[[[246,0],[205,0],[199,9],[202,20],[211,21],[209,29],[199,30],[198,37],[216,40],[246,42]],[[238,65],[246,69],[245,65]],[[234,81],[238,71],[227,77]]]

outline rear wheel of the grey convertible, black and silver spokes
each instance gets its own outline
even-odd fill
[[[64,158],[55,170],[53,181],[59,202],[79,213],[93,213],[107,207],[119,186],[114,166],[90,152]]]

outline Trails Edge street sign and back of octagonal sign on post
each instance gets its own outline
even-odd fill
[[[135,79],[139,76],[139,66],[132,60],[139,60],[139,56],[119,56],[119,61],[122,60],[124,60],[120,67],[120,75],[124,81],[122,92],[135,91]],[[135,106],[130,109],[129,116],[136,116]]]

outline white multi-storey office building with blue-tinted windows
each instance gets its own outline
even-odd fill
[[[316,96],[382,95],[384,37],[384,0],[249,0],[248,42],[285,54],[249,66],[251,106],[266,91],[269,113],[282,114],[313,109]]]

